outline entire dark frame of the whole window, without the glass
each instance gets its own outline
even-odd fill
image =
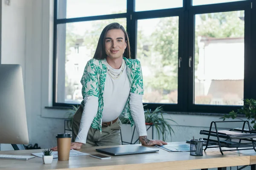
[[[126,18],[128,36],[130,39],[131,54],[134,58],[137,50],[137,20],[159,18],[159,17],[179,17],[179,46],[178,57],[182,57],[180,68],[178,68],[178,103],[163,104],[163,103],[143,103],[145,109],[155,109],[163,106],[164,111],[172,112],[199,112],[199,113],[228,113],[232,110],[237,110],[241,106],[226,106],[226,105],[195,105],[194,101],[194,65],[188,67],[189,56],[193,56],[194,63],[194,25],[195,14],[224,12],[244,10],[244,98],[255,98],[256,89],[253,85],[256,83],[253,75],[256,74],[256,33],[251,30],[256,30],[256,10],[251,9],[251,3],[256,4],[256,0],[244,0],[229,3],[217,3],[209,5],[192,6],[192,0],[183,0],[183,7],[169,8],[152,11],[135,11],[135,0],[127,0],[127,12],[121,14],[108,14],[101,16],[78,17],[58,19],[58,0],[54,0],[54,35],[53,35],[53,89],[52,89],[52,106],[53,107],[71,107],[73,104],[56,102],[56,47],[57,47],[57,25],[64,23],[74,23],[91,20],[103,20],[113,18]],[[255,37],[254,39],[251,36]],[[251,48],[252,47],[252,48]],[[254,48],[253,48],[254,47]],[[187,50],[185,50],[187,49]]]

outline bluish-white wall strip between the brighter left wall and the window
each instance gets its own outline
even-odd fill
[[[51,12],[50,12],[51,11]],[[31,54],[28,65],[31,65],[30,93],[31,127],[30,143],[42,148],[56,145],[55,135],[64,132],[64,120],[48,118],[63,110],[45,109],[52,103],[52,36],[53,36],[53,0],[32,0],[32,34]]]

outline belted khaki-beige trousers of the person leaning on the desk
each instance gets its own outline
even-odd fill
[[[79,132],[79,125],[81,121],[81,116],[83,113],[83,108],[80,106],[79,109],[76,111],[73,117],[72,123],[72,141],[74,142],[76,136]],[[121,121],[118,119],[112,125],[108,127],[102,126],[102,133],[99,130],[90,127],[86,139],[86,144],[83,144],[83,147],[93,147],[93,146],[110,146],[110,145],[120,145],[121,142],[121,135],[120,135],[120,128],[121,128]]]

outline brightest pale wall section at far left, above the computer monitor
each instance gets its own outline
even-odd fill
[[[23,70],[24,88],[27,91],[26,82],[26,50],[27,34],[29,23],[28,10],[29,0],[12,0],[8,6],[5,0],[1,1],[1,63],[2,64],[20,64]],[[29,97],[26,95],[26,99]],[[28,106],[28,103],[27,103]],[[28,108],[28,107],[27,107]],[[30,116],[27,115],[28,123]],[[30,125],[30,124],[29,124]],[[30,128],[29,128],[30,129]],[[6,145],[1,146],[1,150],[9,148]]]

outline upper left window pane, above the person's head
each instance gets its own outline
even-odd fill
[[[58,0],[58,19],[126,13],[126,0]]]

